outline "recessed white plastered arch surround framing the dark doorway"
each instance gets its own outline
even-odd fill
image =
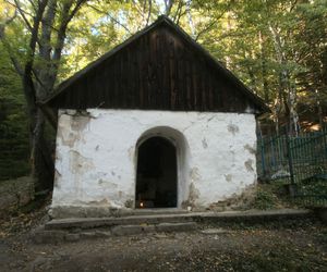
[[[177,208],[182,208],[183,201],[189,197],[189,173],[190,173],[190,148],[185,136],[175,128],[169,126],[157,126],[145,131],[138,138],[135,147],[135,200],[136,200],[136,182],[138,148],[148,139],[160,137],[167,139],[175,148],[177,157]],[[135,201],[135,208],[138,208]]]

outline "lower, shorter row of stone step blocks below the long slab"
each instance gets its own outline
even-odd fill
[[[114,225],[107,228],[89,230],[46,230],[43,226],[32,234],[32,238],[36,244],[58,244],[87,238],[106,238],[110,236],[126,236],[144,233],[190,232],[195,230],[197,230],[197,224],[195,222],[158,223],[152,225]]]

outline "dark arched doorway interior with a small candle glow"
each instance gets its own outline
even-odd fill
[[[136,208],[177,207],[177,152],[166,138],[152,137],[138,147]]]

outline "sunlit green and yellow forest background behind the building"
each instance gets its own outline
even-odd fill
[[[0,0],[0,181],[51,188],[55,129],[38,101],[166,14],[263,98],[263,134],[322,129],[327,0]]]

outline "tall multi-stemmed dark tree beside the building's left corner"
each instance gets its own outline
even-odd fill
[[[53,89],[70,22],[87,0],[8,0],[0,39],[22,79],[29,119],[31,160],[36,190],[52,184],[52,154],[45,138],[45,115],[38,101]],[[14,21],[24,24],[28,41],[23,58],[16,58],[14,39],[8,33]],[[17,34],[16,34],[17,35]]]

